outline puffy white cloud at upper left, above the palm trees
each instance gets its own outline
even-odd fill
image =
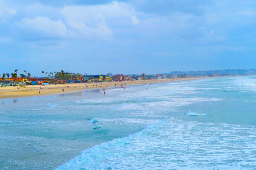
[[[51,20],[46,16],[36,16],[33,19],[23,18],[15,25],[20,29],[23,36],[29,37],[66,37],[67,27],[62,20]]]

